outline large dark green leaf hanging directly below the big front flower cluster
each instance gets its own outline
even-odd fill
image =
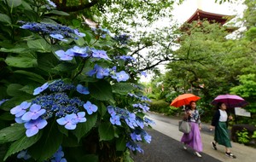
[[[49,159],[61,146],[63,134],[58,130],[57,124],[51,122],[44,128],[44,135],[28,152],[36,161]]]

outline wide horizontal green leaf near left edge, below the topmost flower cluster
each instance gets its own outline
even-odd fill
[[[5,63],[10,67],[36,67],[38,65],[37,59],[33,55],[20,55],[20,56],[11,56],[9,55],[5,59]]]

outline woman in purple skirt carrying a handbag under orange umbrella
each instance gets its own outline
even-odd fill
[[[189,133],[184,133],[181,139],[183,142],[183,148],[187,149],[187,146],[195,150],[195,155],[201,158],[200,152],[202,152],[202,142],[201,142],[201,120],[198,110],[196,110],[195,101],[189,102],[189,107],[186,109],[185,119],[189,121],[191,125],[191,130]]]

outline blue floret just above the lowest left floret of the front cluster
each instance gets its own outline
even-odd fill
[[[21,117],[24,121],[29,121],[31,119],[35,120],[38,119],[41,115],[43,115],[46,112],[45,109],[41,109],[41,106],[38,104],[32,104],[29,111],[24,113],[24,115]]]

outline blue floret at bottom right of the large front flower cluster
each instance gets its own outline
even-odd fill
[[[78,116],[75,113],[67,114],[65,117],[57,119],[57,123],[60,125],[65,125],[67,130],[74,130],[79,123],[77,118]]]

